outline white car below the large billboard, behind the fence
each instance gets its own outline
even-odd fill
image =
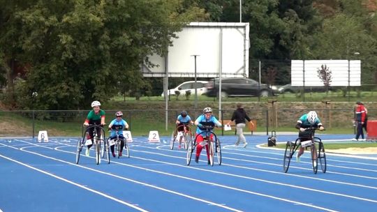
[[[207,88],[205,88],[205,84],[207,84],[208,81],[196,81],[196,91],[198,92],[198,96],[204,94],[207,92]],[[179,92],[179,96],[185,96],[186,91],[191,92],[191,95],[195,95],[195,81],[187,81],[182,82],[182,84],[179,84],[179,86],[175,87],[174,89],[168,90],[168,95],[176,95],[176,93]],[[163,96],[163,93],[161,93],[161,96]]]

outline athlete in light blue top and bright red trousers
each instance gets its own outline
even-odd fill
[[[197,144],[195,162],[199,162],[199,156],[203,149],[203,146],[201,145],[201,143],[204,141],[203,135],[206,135],[207,133],[212,132],[212,129],[207,131],[207,128],[205,128],[205,126],[217,126],[220,128],[221,123],[219,120],[216,119],[214,115],[212,115],[212,108],[205,107],[205,109],[203,109],[203,114],[200,115],[198,119],[195,120],[195,125],[198,126],[198,128],[196,128],[196,133],[195,133],[196,144]],[[213,140],[214,135],[212,133],[209,133],[209,134],[210,134],[209,135],[210,139]],[[210,164],[208,145],[206,144],[203,144],[203,145],[205,145],[205,149],[207,150],[208,164]]]

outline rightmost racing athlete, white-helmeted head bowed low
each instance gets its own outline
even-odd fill
[[[306,130],[306,128],[318,128],[319,130],[324,130],[323,124],[320,123],[320,119],[315,111],[311,111],[304,114],[297,120],[296,129],[299,131],[300,141],[310,140],[314,136],[314,130]],[[300,162],[300,156],[304,153],[304,147],[300,146],[300,151],[297,153],[297,162]],[[316,158],[316,156],[313,156]]]

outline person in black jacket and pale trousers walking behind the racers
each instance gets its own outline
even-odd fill
[[[251,126],[254,126],[254,123],[246,114],[243,105],[241,103],[237,103],[237,109],[233,112],[232,119],[230,119],[230,121],[227,123],[227,125],[229,125],[231,121],[235,121],[237,132],[237,142],[235,143],[236,146],[239,145],[239,142],[244,143],[243,147],[247,146],[246,138],[244,136],[244,128],[246,126],[245,120],[249,121]]]

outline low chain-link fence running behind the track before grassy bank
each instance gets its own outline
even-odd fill
[[[316,107],[316,112],[325,128],[338,129],[339,132],[353,133],[353,109],[341,109],[332,105]],[[233,109],[214,110],[216,117],[221,116],[220,121],[230,119]],[[295,132],[297,120],[308,112],[308,109],[300,109],[300,106],[290,109],[279,109],[270,105],[267,108],[246,108],[251,119],[256,121],[256,132],[267,135],[271,130]],[[36,137],[38,131],[47,130],[49,136],[74,136],[81,137],[84,130],[82,124],[88,111],[1,111],[0,125],[1,137]],[[106,123],[114,119],[116,111],[106,111]],[[175,120],[181,110],[163,109],[131,109],[122,110],[124,119],[130,125],[130,130],[135,136],[148,136],[150,130],[158,130],[161,135],[170,135],[175,129]],[[195,120],[201,111],[187,110],[191,119]],[[369,120],[376,119],[377,109],[368,109]],[[224,132],[218,129],[221,135],[232,135],[234,132]]]

